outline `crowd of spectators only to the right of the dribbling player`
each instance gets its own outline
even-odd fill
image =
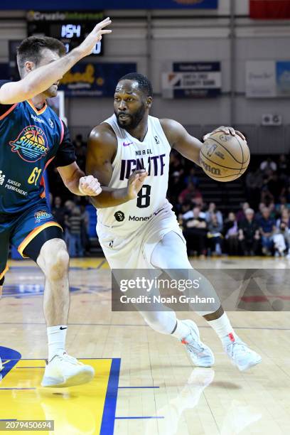
[[[196,169],[171,155],[168,200],[178,215],[188,254],[274,255],[290,258],[290,172],[284,154],[263,159],[242,178],[245,202],[221,213],[205,203]],[[219,191],[216,196],[218,198]]]

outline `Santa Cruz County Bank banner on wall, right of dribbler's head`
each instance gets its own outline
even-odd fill
[[[173,63],[173,71],[162,74],[164,98],[216,97],[221,92],[220,62]]]

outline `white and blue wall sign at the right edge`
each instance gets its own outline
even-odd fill
[[[290,97],[290,61],[248,60],[248,98]]]

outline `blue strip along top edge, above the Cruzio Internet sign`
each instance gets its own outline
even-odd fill
[[[48,9],[47,2],[38,0],[2,0],[1,9]],[[88,9],[218,9],[218,0],[50,0],[49,9],[85,11]]]

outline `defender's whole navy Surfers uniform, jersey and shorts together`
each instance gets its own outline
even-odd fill
[[[46,103],[36,109],[31,101],[0,104],[0,285],[10,243],[26,257],[44,230],[50,229],[48,240],[59,237],[45,200],[43,172],[52,160],[56,167],[75,161],[68,129],[53,109]]]

